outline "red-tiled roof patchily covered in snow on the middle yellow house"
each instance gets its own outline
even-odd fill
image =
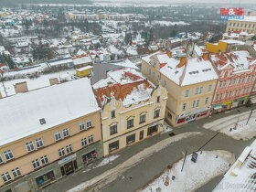
[[[97,101],[103,107],[111,96],[123,105],[144,101],[151,97],[154,86],[134,69],[117,69],[108,73],[109,78],[93,85]]]

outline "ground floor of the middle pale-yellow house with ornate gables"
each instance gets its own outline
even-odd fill
[[[163,131],[164,119],[155,123],[135,128],[130,132],[118,135],[108,141],[103,142],[104,156],[113,154],[131,144],[140,142],[152,135],[161,133]]]

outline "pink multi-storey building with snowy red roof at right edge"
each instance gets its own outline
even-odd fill
[[[212,101],[213,112],[246,104],[256,77],[256,59],[248,51],[233,51],[211,56],[219,70],[219,82]]]

